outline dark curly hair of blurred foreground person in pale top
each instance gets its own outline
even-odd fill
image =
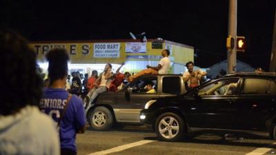
[[[42,79],[37,71],[36,54],[28,41],[12,30],[0,30],[0,115],[16,114],[26,105],[39,106]]]

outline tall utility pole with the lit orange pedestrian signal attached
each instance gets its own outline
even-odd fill
[[[231,74],[236,72],[237,69],[237,0],[229,0],[228,36],[234,39],[234,48],[227,51],[227,73]]]

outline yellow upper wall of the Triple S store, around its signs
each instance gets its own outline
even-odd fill
[[[119,42],[112,42],[119,43]],[[163,49],[152,49],[152,42],[146,43],[146,52],[145,53],[126,53],[126,42],[119,43],[119,57],[106,57],[106,58],[98,58],[94,56],[94,44],[91,42],[83,42],[83,43],[64,43],[64,42],[54,42],[54,43],[30,43],[30,47],[34,49],[37,53],[37,60],[39,62],[46,62],[45,54],[51,48],[61,47],[66,48],[68,54],[70,56],[70,63],[82,63],[82,64],[92,64],[92,63],[122,63],[126,61],[126,56],[132,55],[151,55],[153,59],[146,59],[144,61],[159,61],[155,59],[154,56],[160,56],[161,51],[166,48],[166,41],[163,43]],[[188,61],[193,61],[194,59],[194,50],[193,47],[186,48],[180,45],[170,44],[169,46],[172,54],[170,55],[171,60],[174,63],[185,64]],[[141,59],[128,59],[133,61],[141,61]]]

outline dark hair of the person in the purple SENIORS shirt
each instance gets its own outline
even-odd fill
[[[68,74],[69,56],[63,48],[53,48],[46,54],[46,59],[49,61],[48,76],[49,85],[58,79],[63,79]]]

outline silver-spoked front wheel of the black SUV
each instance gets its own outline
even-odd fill
[[[166,112],[157,118],[155,132],[162,141],[179,141],[184,135],[184,121],[179,115]]]

